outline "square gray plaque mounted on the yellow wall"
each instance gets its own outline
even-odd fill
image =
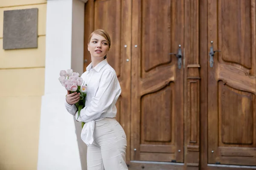
[[[3,12],[3,49],[38,47],[38,8]]]

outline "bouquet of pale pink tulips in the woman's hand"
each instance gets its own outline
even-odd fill
[[[78,117],[80,115],[80,111],[85,106],[85,97],[87,91],[87,85],[82,85],[84,80],[79,76],[79,73],[73,72],[72,69],[68,69],[67,71],[61,70],[59,77],[59,81],[62,86],[66,88],[70,93],[80,93],[79,102],[77,102],[76,108],[78,109]],[[77,117],[77,118],[78,118]],[[82,122],[82,127],[84,126],[84,122]]]

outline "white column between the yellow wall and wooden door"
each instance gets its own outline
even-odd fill
[[[76,136],[73,116],[64,108],[67,91],[58,77],[61,70],[70,68],[83,72],[84,2],[48,0],[46,26],[38,170],[82,170],[78,145],[81,139]]]

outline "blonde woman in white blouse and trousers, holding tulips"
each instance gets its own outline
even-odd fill
[[[88,51],[92,62],[81,75],[87,84],[85,107],[78,112],[75,103],[79,93],[67,93],[65,107],[76,116],[77,121],[86,122],[81,139],[87,144],[87,170],[128,170],[125,163],[126,135],[116,121],[116,100],[121,88],[114,69],[108,64],[107,53],[111,40],[104,30],[90,34]]]

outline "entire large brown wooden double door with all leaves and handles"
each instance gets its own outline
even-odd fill
[[[256,169],[255,14],[255,0],[88,0],[84,44],[111,36],[129,169]]]

